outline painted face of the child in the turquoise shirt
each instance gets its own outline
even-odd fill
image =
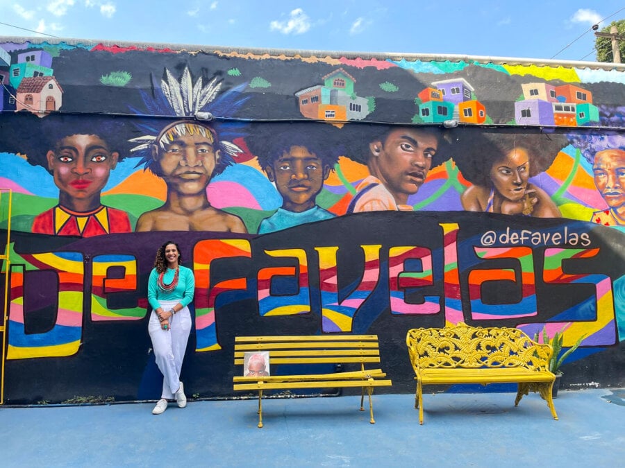
[[[315,206],[315,197],[330,175],[330,167],[304,146],[291,146],[272,166],[265,167],[267,177],[276,182],[283,198],[283,209],[301,213]]]

